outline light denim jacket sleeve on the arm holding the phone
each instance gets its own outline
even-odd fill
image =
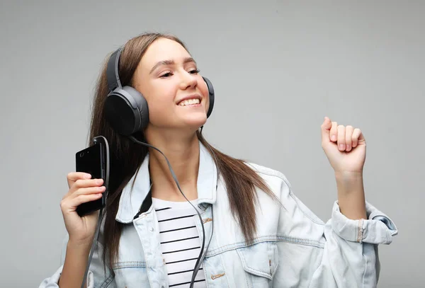
[[[65,261],[65,255],[67,252],[68,240],[69,239],[67,236],[64,239],[64,244],[62,246],[61,266],[56,270],[55,274],[43,280],[39,288],[58,288],[59,287],[57,283],[59,282],[59,278],[62,273],[62,269],[63,269],[63,265]],[[87,274],[87,279],[86,279],[87,288],[97,288],[97,287],[116,288],[111,270],[108,267],[104,269],[103,260],[101,259],[101,257],[99,257],[102,251],[103,251],[102,244],[100,242],[97,242],[97,245],[95,246],[95,250],[93,253],[93,258],[91,259],[89,273]]]

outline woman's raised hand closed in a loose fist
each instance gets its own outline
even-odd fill
[[[366,142],[360,129],[338,125],[324,117],[322,148],[336,175],[362,175]]]

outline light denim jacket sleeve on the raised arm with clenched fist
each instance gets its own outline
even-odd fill
[[[390,244],[398,233],[392,220],[368,202],[368,219],[348,219],[336,201],[324,223],[293,194],[288,180],[281,187],[285,209],[273,287],[376,287],[378,244]]]

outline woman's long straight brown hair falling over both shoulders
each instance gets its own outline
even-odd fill
[[[149,45],[158,38],[167,38],[179,42],[186,50],[186,46],[181,40],[173,35],[164,35],[162,33],[145,33],[129,40],[120,57],[118,73],[123,86],[132,86],[132,77],[135,73],[140,59],[145,54]],[[118,212],[120,195],[125,185],[128,184],[132,175],[140,168],[142,161],[147,155],[147,148],[134,144],[127,137],[117,134],[103,114],[103,105],[108,96],[108,83],[106,79],[106,64],[98,78],[94,103],[91,116],[91,127],[89,141],[98,135],[108,139],[110,145],[110,183],[108,204],[105,213],[105,222],[103,226],[103,263],[108,263],[112,267],[118,256],[118,246],[123,224],[115,221],[115,215]],[[143,134],[137,134],[137,138],[144,139]],[[212,147],[203,137],[200,131],[197,132],[200,142],[213,154],[215,165],[220,172],[220,177],[224,180],[229,197],[229,205],[234,218],[244,234],[246,243],[251,243],[256,234],[256,190],[259,188],[268,195],[277,199],[271,192],[263,179],[246,163],[239,159],[234,159]],[[107,259],[108,258],[108,259]],[[107,260],[107,261],[106,261]]]

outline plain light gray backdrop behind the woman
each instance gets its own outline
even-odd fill
[[[60,200],[103,59],[158,31],[215,86],[207,139],[285,173],[324,220],[336,185],[323,117],[360,127],[367,200],[399,228],[380,246],[378,286],[420,287],[424,15],[424,1],[2,1],[0,286],[38,287],[59,267]]]

